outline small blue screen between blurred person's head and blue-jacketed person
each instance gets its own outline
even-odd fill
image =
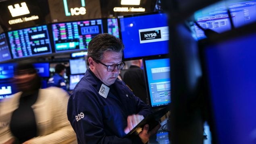
[[[48,62],[35,63],[33,64],[35,69],[37,70],[37,74],[41,77],[49,77],[50,76],[50,64]]]

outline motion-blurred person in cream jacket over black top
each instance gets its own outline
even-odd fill
[[[0,144],[77,143],[66,114],[67,92],[40,89],[41,79],[27,62],[17,65],[13,82],[19,93],[0,103]]]

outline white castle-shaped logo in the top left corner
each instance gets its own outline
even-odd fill
[[[15,4],[14,7],[15,8],[13,8],[12,5],[8,6],[8,9],[9,9],[10,14],[12,15],[12,17],[21,16],[21,15],[25,15],[25,14],[30,13],[26,2],[21,2],[21,6],[19,4]]]

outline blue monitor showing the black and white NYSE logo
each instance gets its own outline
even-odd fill
[[[167,14],[154,12],[118,17],[124,60],[169,53]]]

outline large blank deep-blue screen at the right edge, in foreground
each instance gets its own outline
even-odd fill
[[[206,46],[206,75],[219,144],[256,143],[256,33]]]

